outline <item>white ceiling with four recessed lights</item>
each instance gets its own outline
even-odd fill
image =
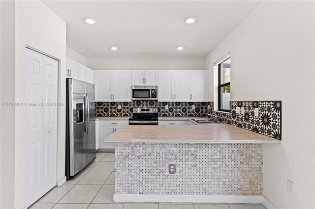
[[[66,45],[71,49],[86,58],[132,58],[205,57],[259,1],[43,2],[66,22]],[[184,21],[189,16],[197,18],[194,24]],[[96,24],[85,23],[85,17]],[[112,51],[112,46],[118,50]]]

